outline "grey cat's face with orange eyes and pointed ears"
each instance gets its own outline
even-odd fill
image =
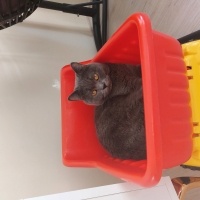
[[[76,73],[75,89],[68,100],[82,100],[96,106],[103,104],[112,89],[109,67],[101,63],[71,63],[71,67]]]

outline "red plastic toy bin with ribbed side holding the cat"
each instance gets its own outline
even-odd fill
[[[190,95],[181,46],[176,39],[152,30],[148,16],[137,13],[91,61],[141,64],[147,160],[114,159],[101,147],[95,132],[94,107],[67,100],[75,75],[70,66],[65,66],[61,72],[64,164],[98,167],[143,186],[155,185],[162,169],[185,162],[192,152]]]

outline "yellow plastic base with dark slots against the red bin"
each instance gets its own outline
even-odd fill
[[[200,167],[200,40],[183,44],[182,49],[187,66],[193,119],[193,153],[183,165]]]

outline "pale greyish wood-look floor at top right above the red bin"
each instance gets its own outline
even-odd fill
[[[109,35],[132,13],[145,12],[157,31],[180,38],[200,29],[199,0],[108,0]]]

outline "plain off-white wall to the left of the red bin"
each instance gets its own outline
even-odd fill
[[[86,17],[37,9],[0,31],[1,200],[120,181],[61,159],[60,69],[95,53]]]

